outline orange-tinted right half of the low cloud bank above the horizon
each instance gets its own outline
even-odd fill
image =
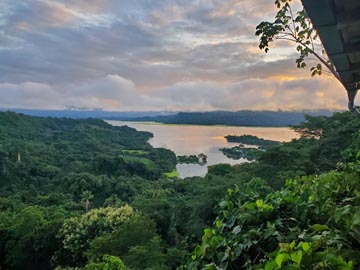
[[[311,78],[291,81],[248,79],[230,85],[181,83],[162,89],[157,95],[185,110],[194,110],[197,104],[201,104],[203,110],[339,109],[346,102],[345,91],[333,79]]]

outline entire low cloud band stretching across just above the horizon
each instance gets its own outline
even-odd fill
[[[305,90],[304,90],[305,86]],[[119,75],[68,85],[66,89],[26,82],[0,84],[0,107],[64,109],[106,108],[108,110],[292,110],[339,109],[346,95],[334,79],[246,79],[231,84],[212,81],[179,82],[142,93]],[[306,104],[306,106],[304,106]]]

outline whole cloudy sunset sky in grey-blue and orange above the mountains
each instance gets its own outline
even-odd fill
[[[346,109],[294,45],[258,48],[273,2],[0,0],[0,108]]]

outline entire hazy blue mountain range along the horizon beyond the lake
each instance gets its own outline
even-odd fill
[[[0,109],[6,111],[7,109]],[[11,109],[18,113],[41,117],[98,118],[164,124],[228,125],[286,127],[305,120],[305,115],[330,116],[334,111],[213,111],[213,112],[111,112],[102,110],[32,110]]]

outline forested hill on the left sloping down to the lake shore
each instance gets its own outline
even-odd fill
[[[69,180],[74,174],[86,182],[90,176],[82,172],[157,179],[175,168],[176,158],[170,150],[152,148],[147,143],[151,136],[97,119],[0,113],[0,194],[24,186],[55,191],[59,185],[74,185]]]

